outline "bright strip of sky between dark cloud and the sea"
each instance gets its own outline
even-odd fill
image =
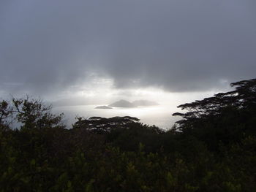
[[[61,105],[73,105],[73,101],[77,104],[110,104],[114,101],[124,99],[127,101],[150,100],[159,104],[183,104],[196,99],[203,99],[213,96],[215,93],[230,90],[228,82],[221,80],[223,83],[222,90],[215,89],[211,91],[200,92],[167,92],[162,88],[146,87],[146,88],[115,88],[112,79],[107,77],[97,77],[91,75],[90,82],[78,82],[66,90],[58,94],[58,96],[48,96],[47,100],[56,103],[65,100]],[[66,103],[65,103],[66,102]]]

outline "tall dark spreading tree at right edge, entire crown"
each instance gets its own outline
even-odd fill
[[[173,114],[182,118],[176,122],[177,129],[215,150],[220,143],[240,142],[246,135],[255,135],[256,79],[230,85],[234,91],[179,105],[187,112]]]

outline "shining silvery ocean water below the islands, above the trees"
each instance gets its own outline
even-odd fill
[[[111,118],[115,116],[132,116],[139,118],[141,123],[147,125],[155,125],[159,128],[168,129],[179,119],[173,117],[174,112],[179,112],[178,108],[172,105],[157,105],[135,108],[121,108],[115,107],[109,110],[95,109],[97,105],[76,105],[76,106],[63,106],[54,107],[53,112],[64,113],[67,127],[71,128],[72,123],[75,123],[75,117],[90,118],[93,116],[102,118]]]

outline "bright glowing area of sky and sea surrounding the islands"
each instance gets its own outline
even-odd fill
[[[90,118],[100,116],[111,118],[113,116],[132,116],[140,119],[140,122],[148,125],[156,125],[160,128],[171,128],[178,118],[173,117],[174,112],[181,112],[178,105],[200,100],[220,90],[202,92],[170,93],[161,88],[130,88],[116,89],[110,79],[93,80],[90,85],[84,83],[77,92],[66,92],[61,99],[53,101],[55,112],[64,112],[69,126],[75,122],[75,116]],[[223,81],[223,83],[225,83]],[[227,90],[224,90],[227,91]],[[113,107],[110,110],[94,109],[97,106],[106,105],[118,100],[148,100],[155,101],[158,106],[121,108]]]

